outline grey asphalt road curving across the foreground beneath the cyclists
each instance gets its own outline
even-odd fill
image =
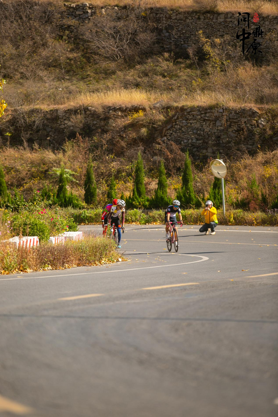
[[[84,233],[101,232],[81,226]],[[278,229],[127,226],[127,262],[0,276],[0,416],[276,417]]]

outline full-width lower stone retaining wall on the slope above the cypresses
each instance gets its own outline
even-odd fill
[[[22,145],[21,137],[28,136],[30,148],[36,144],[39,147],[57,149],[63,146],[66,138],[75,138],[78,131],[82,136],[89,137],[110,133],[112,145],[114,140],[129,138],[129,146],[132,146],[137,133],[135,126],[134,133],[130,136],[128,113],[138,110],[146,112],[144,106],[107,107],[103,111],[92,107],[50,111],[33,109],[25,117],[31,122],[24,124],[21,130],[16,125],[15,115],[7,111],[1,122],[4,122],[3,131],[13,131],[13,136],[9,138],[10,145]],[[165,121],[165,126],[157,128],[152,137],[148,138],[148,146],[152,146],[156,140],[165,143],[173,141],[182,150],[189,149],[190,154],[197,159],[213,156],[215,148],[230,156],[235,151],[246,150],[254,153],[259,146],[262,149],[278,146],[277,133],[268,138],[266,126],[269,115],[265,108],[181,106],[172,108],[171,112],[173,116]],[[76,123],[79,125],[78,129]],[[133,120],[133,123],[136,125],[136,121]],[[142,119],[139,123],[142,127]],[[2,137],[2,140],[7,145],[7,137]]]

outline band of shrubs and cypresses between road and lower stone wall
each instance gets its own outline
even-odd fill
[[[61,151],[3,148],[0,156],[0,204],[12,211],[20,207],[22,213],[27,210],[30,214],[40,196],[40,204],[49,207],[50,219],[54,218],[54,211],[61,210],[68,219],[74,216],[78,223],[98,222],[101,207],[114,196],[125,199],[130,210],[165,209],[173,198],[180,199],[183,209],[193,211],[208,198],[213,200],[217,209],[222,206],[220,180],[209,170],[211,158],[196,163],[188,152],[184,154],[177,149],[175,164],[171,156],[165,161],[162,158],[153,161],[152,155],[140,147],[133,148],[125,158],[116,158],[109,153],[103,154],[101,142],[98,146],[99,149],[92,151],[90,142],[78,135]],[[90,155],[93,155],[93,162]],[[223,158],[223,161],[228,171],[225,177],[226,210],[233,213],[234,221],[250,224],[254,217],[251,214],[257,213],[257,218],[265,219],[260,220],[260,224],[262,221],[266,224],[272,215],[273,222],[270,223],[277,222],[278,151],[258,151],[253,157],[246,154],[238,160]],[[41,207],[36,216],[40,217],[44,208]],[[67,214],[69,210],[71,215]],[[238,215],[241,212],[251,214],[244,219]],[[98,219],[92,213],[97,213]],[[190,222],[198,221],[194,216]],[[24,218],[25,215],[20,216],[20,221]],[[133,217],[130,221],[141,220]],[[146,219],[145,222],[151,221]],[[65,226],[70,225],[63,224],[63,228]],[[75,226],[72,224],[70,227]]]

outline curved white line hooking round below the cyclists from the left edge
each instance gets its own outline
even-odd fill
[[[164,255],[165,252],[160,252],[161,255]],[[191,262],[182,262],[181,264],[170,264],[170,265],[156,265],[156,266],[143,266],[142,268],[128,268],[128,269],[114,269],[113,271],[95,271],[95,272],[81,272],[79,274],[63,274],[63,275],[46,275],[46,276],[26,276],[20,278],[3,278],[0,281],[12,281],[12,280],[20,280],[20,279],[35,279],[35,278],[63,278],[64,276],[77,276],[77,275],[92,275],[92,274],[109,274],[113,273],[116,274],[117,272],[125,272],[125,271],[135,271],[137,269],[153,269],[153,268],[166,268],[168,266],[178,266],[178,265],[187,265],[187,264],[195,264],[197,262],[207,261],[209,258],[207,256],[201,255],[188,255],[188,254],[180,254],[182,256],[196,256],[199,259],[198,261],[191,261]]]

